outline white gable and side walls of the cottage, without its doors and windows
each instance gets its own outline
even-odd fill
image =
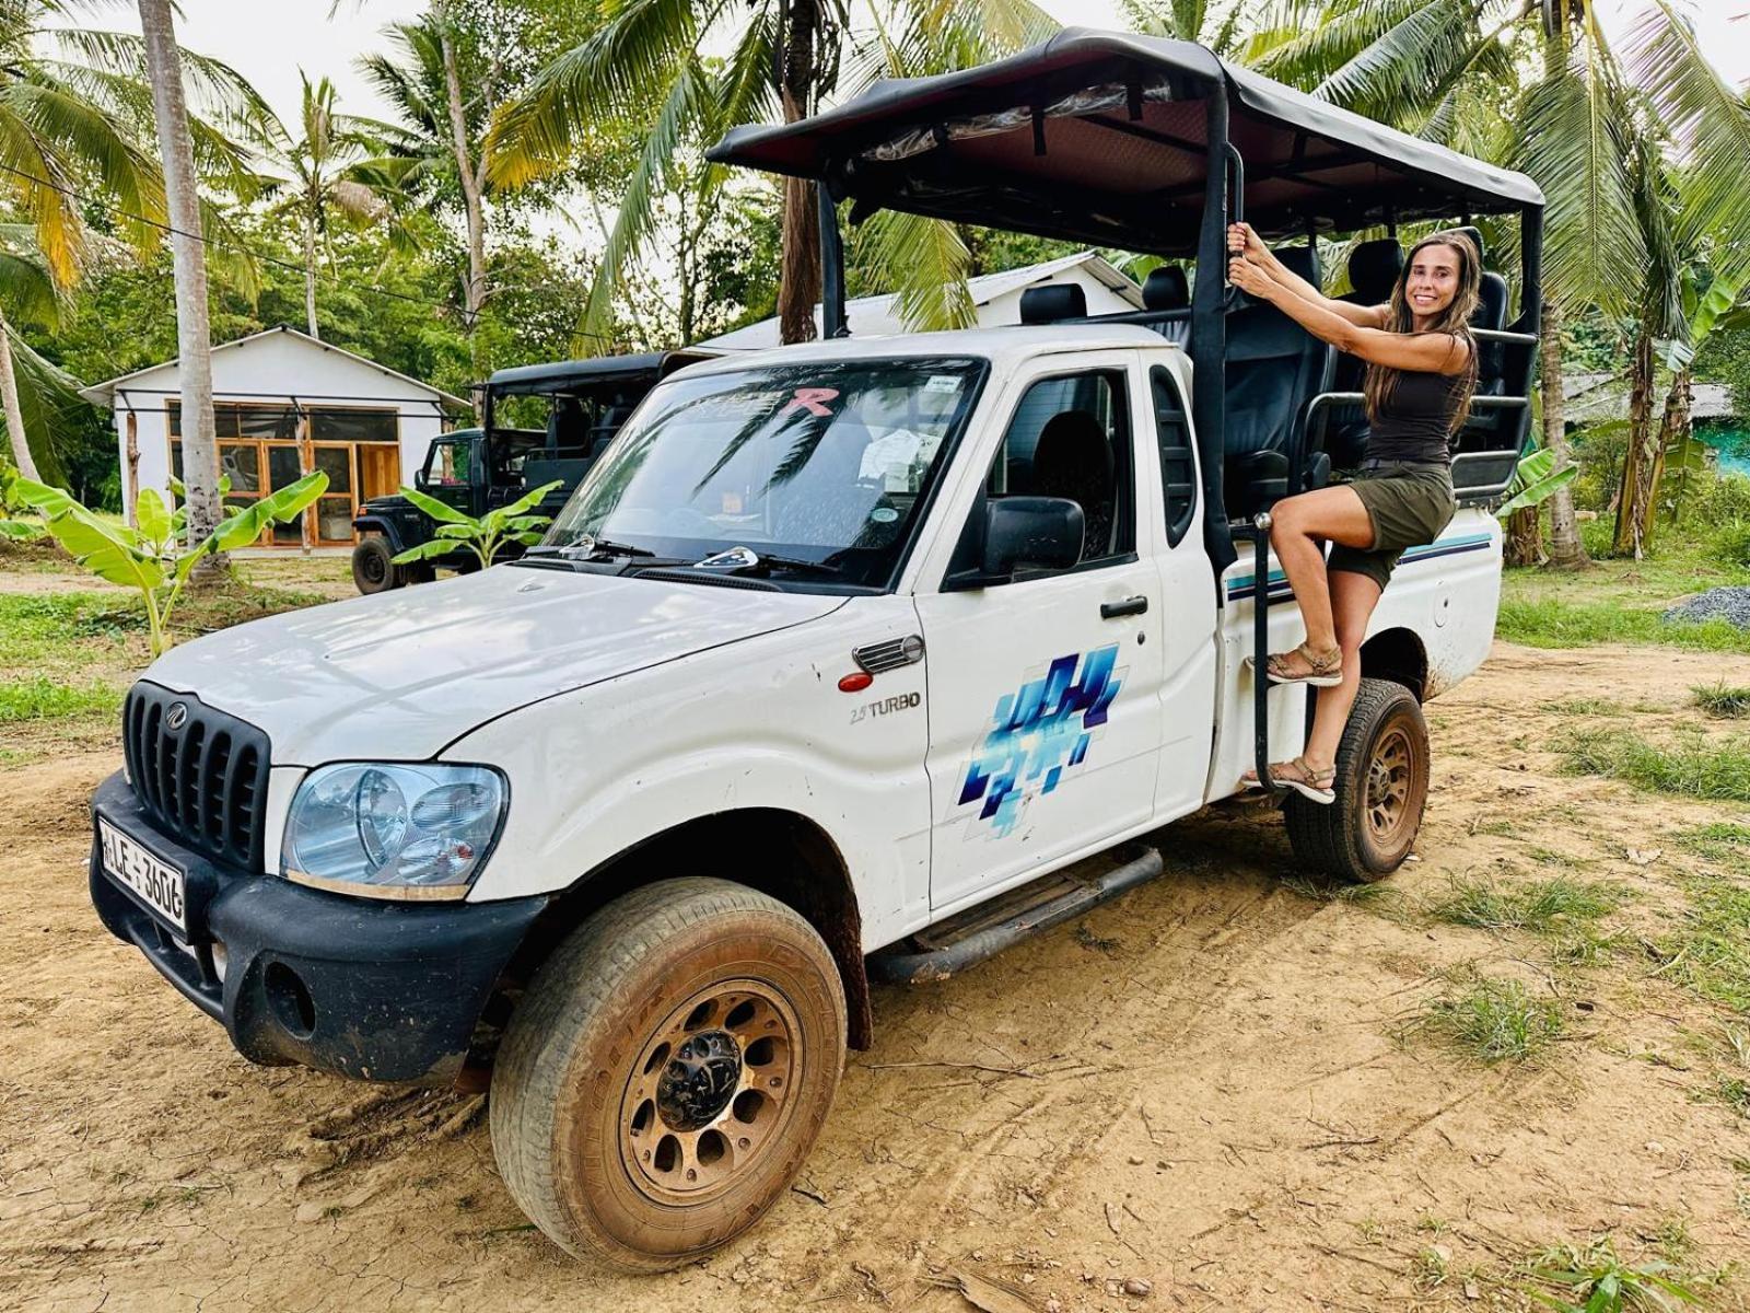
[[[443,432],[432,394],[341,352],[292,336],[270,333],[214,350],[214,399],[284,403],[287,397],[313,406],[383,406],[399,411],[401,481],[411,483],[425,464],[425,448]],[[175,364],[130,378],[116,389],[116,452],[122,490],[128,483],[128,403],[136,415],[140,443],[140,487],[170,492],[170,417],[164,404],[175,399]],[[142,390],[156,389],[156,390]],[[164,392],[170,396],[164,396]],[[259,392],[264,396],[238,396]],[[369,397],[369,399],[368,399]]]

